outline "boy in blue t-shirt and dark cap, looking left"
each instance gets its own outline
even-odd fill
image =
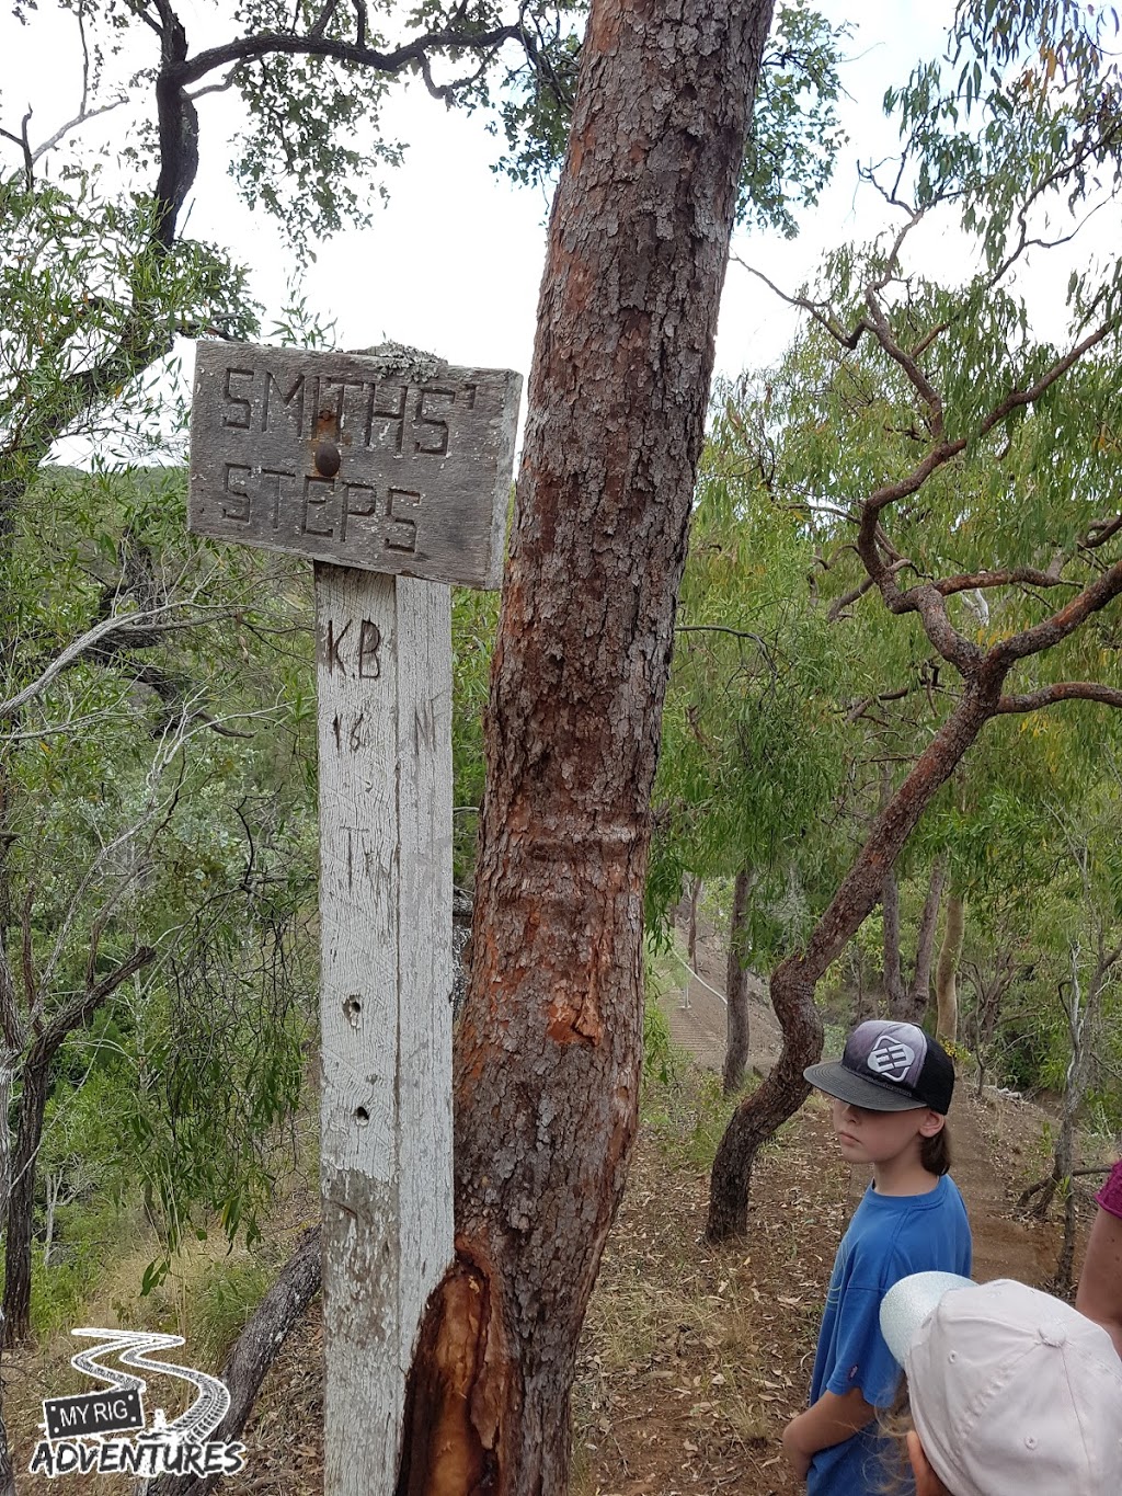
[[[833,1097],[842,1158],[871,1164],[872,1183],[833,1263],[811,1406],[791,1418],[782,1444],[808,1496],[872,1496],[887,1477],[877,1412],[899,1381],[880,1330],[881,1299],[911,1273],[971,1270],[966,1209],[947,1174],[954,1067],[914,1023],[871,1019],[841,1061],[805,1076]]]

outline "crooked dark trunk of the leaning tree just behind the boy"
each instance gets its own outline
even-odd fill
[[[932,797],[993,715],[1007,670],[966,685],[959,705],[877,817],[830,907],[814,926],[806,950],[788,956],[772,972],[772,1004],[782,1028],[782,1049],[760,1089],[730,1118],[717,1149],[709,1183],[709,1240],[744,1236],[748,1230],[755,1155],[806,1100],[811,1088],[803,1080],[803,1070],[821,1058],[821,1019],[814,989],[875,908],[886,868],[893,865]]]

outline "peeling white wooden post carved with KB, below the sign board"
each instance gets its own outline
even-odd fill
[[[452,1257],[449,589],[317,562],[316,633],[325,1490],[368,1496]]]

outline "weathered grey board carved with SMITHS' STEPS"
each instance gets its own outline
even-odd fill
[[[200,343],[188,528],[498,586],[521,375],[404,353]]]

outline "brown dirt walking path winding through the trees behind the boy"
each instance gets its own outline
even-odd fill
[[[681,989],[664,999],[670,1037],[700,1065],[720,1074],[726,1044],[726,1002],[721,995],[724,951],[720,942],[699,935],[694,974],[690,975],[684,962],[679,962],[679,972]],[[763,1076],[779,1052],[781,1034],[763,983],[752,978],[752,987],[748,1067]],[[951,1173],[969,1210],[974,1275],[981,1281],[1019,1278],[1043,1285],[1055,1267],[1058,1230],[1013,1215],[1044,1121],[1044,1113],[1029,1103],[1004,1095],[998,1101],[992,1094],[977,1097],[966,1083],[957,1088],[950,1113],[954,1146]],[[866,1177],[863,1170],[850,1173],[850,1201],[856,1206]]]

